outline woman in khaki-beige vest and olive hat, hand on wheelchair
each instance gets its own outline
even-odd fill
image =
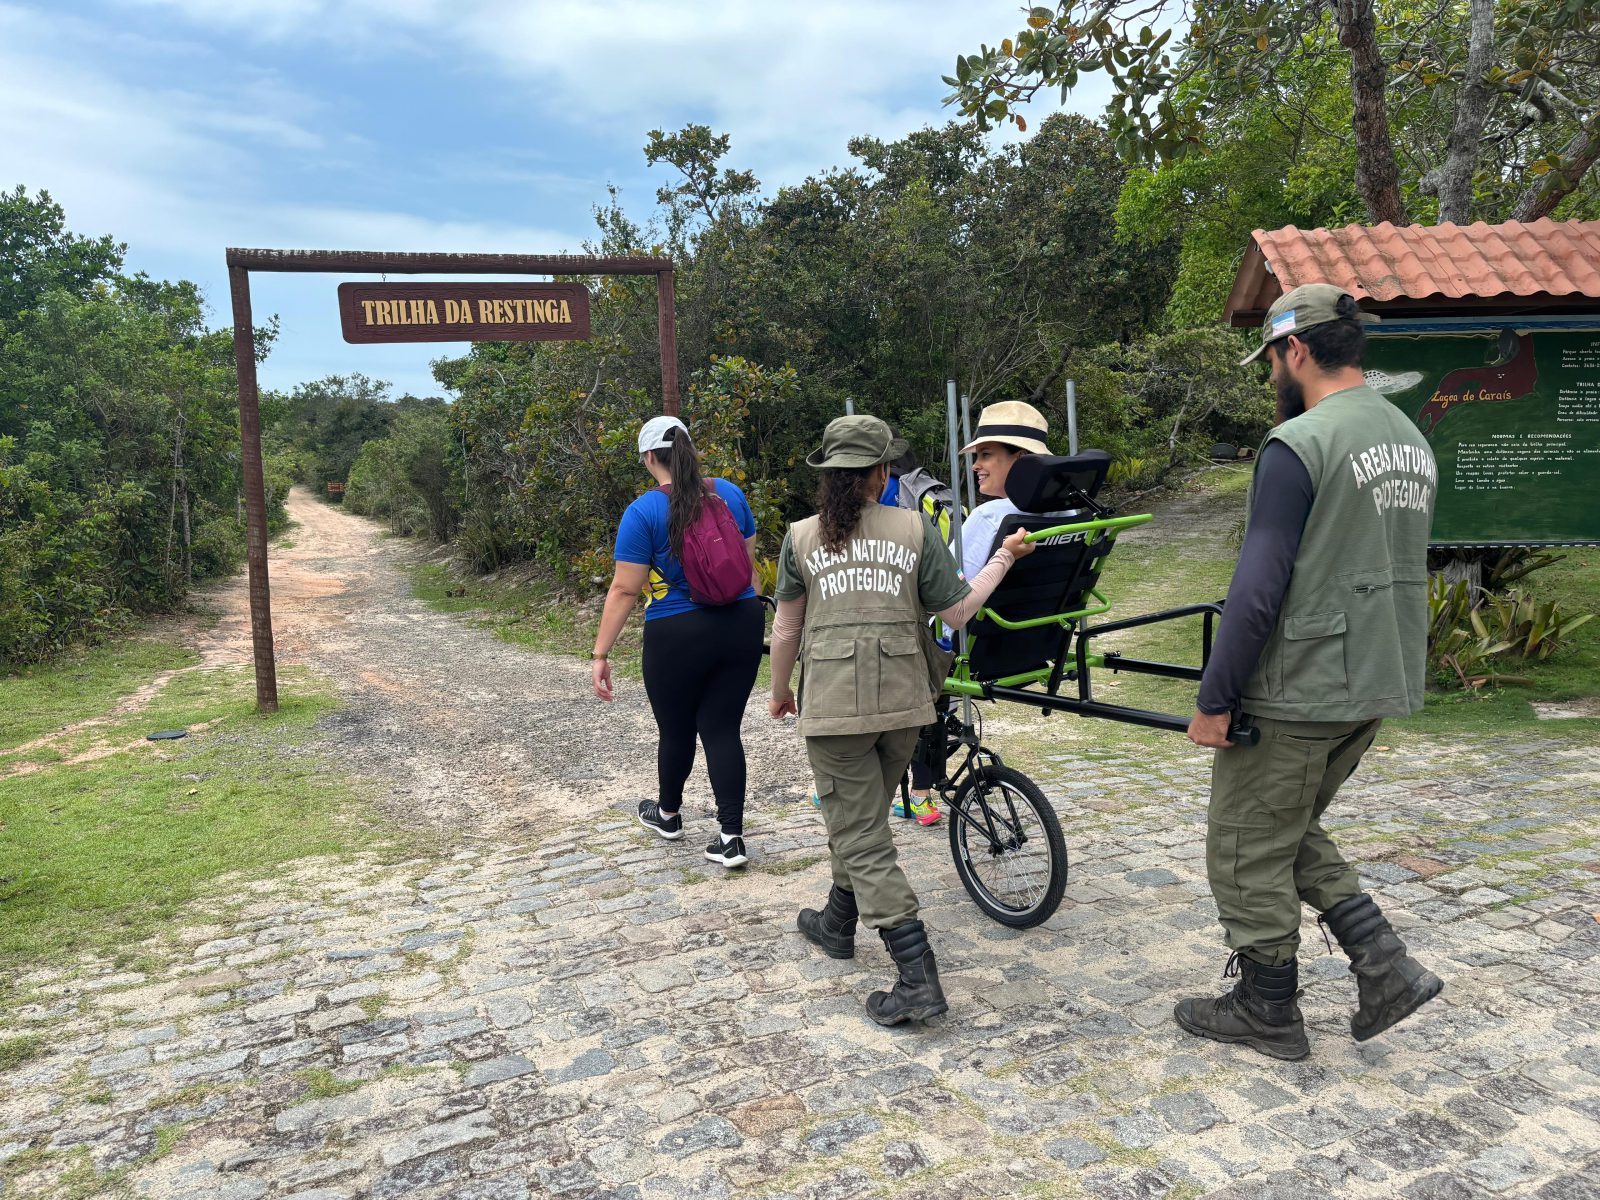
[[[867,997],[880,1026],[947,1008],[888,826],[890,792],[933,720],[926,614],[965,624],[1034,549],[1016,533],[963,582],[923,514],[877,502],[890,461],[904,450],[878,418],[843,416],[806,459],[821,472],[818,515],[789,526],[778,557],[768,704],[774,718],[798,714],[834,867],[827,904],[802,909],[800,933],[829,957],[851,958],[858,918],[878,931],[899,966],[891,990]],[[798,704],[789,688],[797,658]]]

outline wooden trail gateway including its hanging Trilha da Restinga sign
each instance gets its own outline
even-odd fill
[[[595,254],[384,254],[341,250],[227,251],[238,371],[238,438],[245,483],[250,634],[256,658],[256,709],[277,712],[267,586],[267,498],[261,470],[261,405],[250,272],[370,275],[654,275],[661,342],[661,411],[678,411],[678,330],[670,258]],[[589,336],[589,290],[581,283],[344,283],[339,320],[349,342],[581,341]]]

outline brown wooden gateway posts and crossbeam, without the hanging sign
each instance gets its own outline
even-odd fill
[[[256,710],[277,712],[278,670],[272,646],[272,586],[267,579],[267,498],[261,464],[261,398],[250,272],[366,275],[654,275],[656,333],[661,347],[661,411],[678,413],[678,326],[670,258],[598,254],[435,254],[368,250],[248,250],[229,246],[227,283],[234,302],[234,366],[238,373],[238,443],[245,486],[250,637],[256,661]]]

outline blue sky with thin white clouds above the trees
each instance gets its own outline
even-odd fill
[[[728,165],[771,195],[846,165],[853,136],[949,120],[955,54],[1022,19],[1013,0],[0,0],[0,187],[48,190],[229,325],[227,246],[584,253],[608,184],[643,221],[672,182],[645,163],[656,128],[731,134]],[[440,394],[429,363],[466,346],[346,344],[342,278],[251,275],[256,323],[282,323],[261,386],[360,371]]]

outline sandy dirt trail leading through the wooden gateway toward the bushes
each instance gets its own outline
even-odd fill
[[[586,662],[506,645],[416,600],[411,547],[301,490],[288,509],[299,528],[269,563],[278,662],[334,680],[344,707],[325,746],[382,779],[398,816],[499,835],[651,795],[656,734],[640,683],[622,680],[603,706]],[[198,638],[205,661],[248,664],[243,578],[211,600],[222,616]],[[800,739],[758,704],[746,714],[746,746],[750,803],[808,786]],[[686,803],[712,811],[701,768]]]

